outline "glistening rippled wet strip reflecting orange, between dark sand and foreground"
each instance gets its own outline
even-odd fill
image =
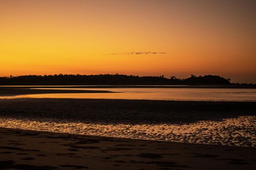
[[[81,135],[256,147],[256,116],[190,124],[98,124],[59,119],[0,118],[0,127]]]

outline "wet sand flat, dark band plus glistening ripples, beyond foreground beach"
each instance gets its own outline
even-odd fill
[[[256,146],[256,102],[0,100],[0,127]]]

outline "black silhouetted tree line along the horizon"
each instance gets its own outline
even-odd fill
[[[24,75],[0,77],[0,85],[229,85],[230,79],[217,75],[179,79],[175,76],[135,76],[122,74],[99,75]]]

